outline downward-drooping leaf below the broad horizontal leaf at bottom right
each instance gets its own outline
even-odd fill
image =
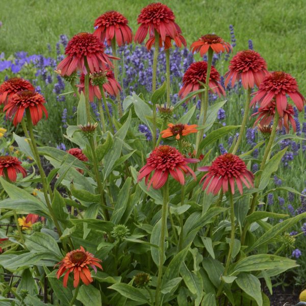
[[[249,273],[240,273],[236,279],[236,284],[251,298],[256,300],[258,306],[263,306],[261,294],[261,284],[259,279]]]

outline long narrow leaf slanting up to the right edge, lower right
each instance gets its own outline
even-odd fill
[[[306,218],[306,212],[299,214],[293,218],[289,218],[281,223],[277,223],[276,225],[272,226],[270,230],[268,230],[261,237],[259,237],[253,245],[249,246],[246,251],[251,252],[260,245],[271,242],[272,239],[274,239],[279,234],[285,232],[287,228],[297,224],[303,218]]]

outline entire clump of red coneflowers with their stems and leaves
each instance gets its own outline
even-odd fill
[[[301,130],[297,116],[305,104],[296,80],[269,72],[253,50],[234,55],[220,75],[213,61],[228,59],[234,44],[207,34],[190,46],[207,61],[192,59],[174,91],[170,49],[186,45],[174,13],[152,3],[137,22],[134,42],[148,35],[142,56],[155,47],[151,92],[122,99],[120,49],[133,35],[121,13],[101,14],[93,34],[66,41],[66,57],[54,69],[58,87],[61,77],[70,83],[77,114],[75,125],[65,121],[67,147],[43,146],[47,140],[38,137],[41,122],[57,111],[43,93],[21,78],[0,85],[0,111],[9,122],[0,129],[4,305],[264,306],[266,289],[272,294],[276,277],[304,256],[296,246],[305,232],[297,229],[303,207],[290,204],[291,216],[271,209],[277,199],[287,204],[283,190],[290,203],[301,197],[304,205],[305,192],[279,186],[283,177],[275,173],[288,147],[279,143],[292,138],[303,145],[290,134]],[[166,66],[160,80],[159,60]],[[239,125],[223,124],[227,85],[240,86],[245,101],[243,114],[226,114]],[[250,106],[258,107],[252,115]],[[258,143],[252,126],[263,134]]]

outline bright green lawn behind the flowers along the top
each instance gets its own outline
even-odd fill
[[[137,15],[150,1],[142,0],[0,0],[0,52],[6,56],[24,50],[47,53],[47,43],[55,47],[60,34],[72,35],[93,30],[96,17],[108,10],[125,15],[137,29]],[[215,32],[230,40],[233,24],[236,51],[254,49],[268,62],[270,70],[291,73],[306,89],[306,9],[305,0],[165,0],[176,16],[188,44],[201,34]],[[303,90],[302,90],[303,91]],[[305,93],[305,92],[304,92]]]

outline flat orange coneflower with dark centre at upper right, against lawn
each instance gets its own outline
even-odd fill
[[[190,46],[190,50],[192,52],[199,52],[200,56],[205,55],[209,48],[215,53],[230,52],[232,50],[232,46],[228,42],[225,42],[224,39],[215,34],[206,34]]]

